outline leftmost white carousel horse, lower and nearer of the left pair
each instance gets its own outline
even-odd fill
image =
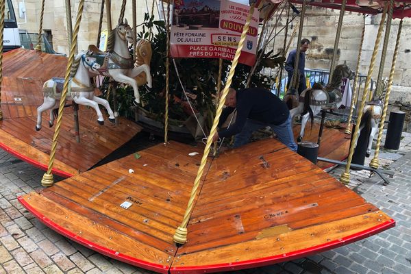
[[[108,101],[95,96],[95,89],[90,82],[90,75],[92,76],[91,73],[97,71],[99,68],[100,65],[96,62],[96,58],[87,56],[85,52],[78,53],[75,56],[71,68],[67,100],[73,100],[79,105],[88,105],[94,108],[98,116],[97,122],[100,125],[103,125],[104,118],[98,104],[103,105],[108,111],[108,114],[110,115],[108,120],[111,123],[114,123],[115,119]],[[45,110],[50,110],[49,127],[53,126],[55,111],[59,108],[63,84],[64,78],[55,77],[47,80],[43,85],[42,90],[45,99],[44,103],[37,108],[36,131],[41,129],[42,112]]]

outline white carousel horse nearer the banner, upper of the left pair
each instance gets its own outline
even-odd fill
[[[136,103],[140,103],[140,93],[138,84],[146,84],[151,88],[151,45],[145,40],[140,40],[136,50],[136,62],[130,56],[128,43],[134,42],[132,28],[128,25],[127,19],[124,23],[119,23],[115,29],[110,32],[107,41],[107,52],[100,51],[95,45],[88,46],[88,55],[97,58],[101,65],[95,73],[112,77],[114,81],[128,84],[134,90]],[[138,75],[145,73],[144,76]],[[140,83],[138,83],[140,82]]]

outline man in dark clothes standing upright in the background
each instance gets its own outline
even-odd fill
[[[310,40],[308,39],[303,39],[300,42],[300,55],[299,55],[299,62],[298,62],[299,75],[297,75],[297,77],[299,77],[299,84],[298,84],[298,94],[299,95],[301,95],[301,92],[303,92],[307,88],[304,69],[306,67],[306,51],[309,45],[310,45]],[[288,88],[290,88],[292,74],[294,73],[294,64],[295,64],[296,55],[297,55],[297,49],[293,49],[292,51],[290,51],[290,54],[288,54],[288,58],[286,60],[286,65],[284,66],[284,68],[288,72],[287,90]]]

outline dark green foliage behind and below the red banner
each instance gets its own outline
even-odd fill
[[[165,89],[166,89],[166,28],[164,21],[155,21],[154,16],[145,14],[145,21],[141,24],[142,32],[138,33],[138,38],[147,39],[151,42],[153,56],[151,58],[151,75],[153,78],[153,88],[150,90],[140,87],[140,98],[145,103],[145,110],[151,112],[159,121],[164,118],[165,109]],[[155,33],[155,34],[154,34]],[[274,75],[263,75],[264,68],[275,68],[282,66],[284,58],[273,55],[273,51],[263,53],[261,62],[256,67],[252,77],[250,87],[262,87],[271,89],[275,82]],[[208,123],[212,123],[210,117],[215,111],[214,99],[216,97],[217,79],[219,76],[219,60],[212,58],[175,58],[179,78],[187,92],[195,95],[190,99],[192,107],[201,114],[208,115]],[[223,79],[221,88],[224,87],[226,77],[229,73],[231,61],[223,60]],[[245,88],[247,77],[251,71],[250,66],[238,64],[232,82],[232,87],[236,89]],[[169,117],[171,119],[185,120],[189,111],[182,107],[181,102],[186,98],[179,83],[173,59],[170,58],[169,66]],[[126,87],[118,92],[120,114],[129,115],[127,105],[132,105],[132,88]]]

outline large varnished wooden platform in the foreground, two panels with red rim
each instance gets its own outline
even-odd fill
[[[275,264],[395,225],[318,166],[268,139],[209,158],[188,242],[177,247],[173,234],[201,153],[178,142],[156,145],[140,158],[129,155],[18,199],[60,234],[159,273]],[[122,208],[125,201],[132,206]]]

